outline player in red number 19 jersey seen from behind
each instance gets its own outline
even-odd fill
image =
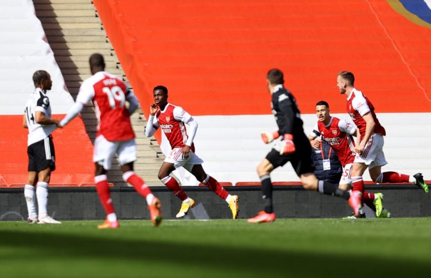
[[[98,119],[93,153],[93,161],[96,165],[94,181],[107,214],[105,222],[98,228],[120,226],[112,205],[106,176],[115,154],[118,156],[123,171],[123,179],[131,183],[135,190],[145,198],[151,221],[158,226],[162,221],[160,201],[133,170],[137,150],[130,115],[139,106],[138,100],[123,80],[105,71],[102,55],[93,54],[90,57],[90,69],[93,75],[81,85],[75,104],[61,120],[60,125],[66,125],[82,111],[84,105],[93,100]],[[126,107],[126,102],[129,103],[129,107]]]

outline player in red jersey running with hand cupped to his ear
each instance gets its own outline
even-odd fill
[[[205,173],[202,168],[204,161],[194,153],[193,138],[198,129],[198,122],[189,113],[184,111],[182,107],[168,103],[168,88],[165,86],[154,87],[153,98],[154,103],[150,106],[150,115],[145,127],[145,135],[150,137],[161,127],[162,132],[165,133],[172,147],[170,155],[160,167],[158,176],[175,196],[182,201],[180,211],[176,217],[181,218],[185,216],[188,210],[194,206],[194,200],[188,197],[175,178],[169,175],[173,170],[184,167],[184,169],[194,175],[211,191],[224,199],[232,212],[232,218],[237,218],[239,210],[238,196],[232,196],[227,193],[216,179]],[[188,129],[189,134],[187,134],[184,124],[190,127]]]

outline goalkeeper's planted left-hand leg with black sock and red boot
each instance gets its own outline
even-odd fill
[[[249,218],[247,220],[249,223],[265,223],[276,220],[276,214],[273,212],[272,208],[272,182],[269,175],[273,169],[274,166],[266,158],[257,166],[257,174],[262,184],[263,210],[255,217]]]

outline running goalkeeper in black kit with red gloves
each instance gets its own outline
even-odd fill
[[[272,95],[272,114],[276,118],[278,131],[262,133],[264,143],[270,143],[275,138],[282,137],[275,147],[266,155],[266,158],[257,167],[257,173],[262,183],[264,210],[253,218],[251,223],[272,222],[276,214],[272,210],[272,183],[269,176],[273,169],[291,162],[296,174],[300,177],[302,186],[306,190],[335,195],[349,201],[355,213],[359,213],[360,196],[353,192],[338,189],[334,184],[318,180],[315,176],[311,160],[311,148],[302,127],[301,115],[292,93],[284,87],[283,72],[271,69],[266,76],[268,90]]]

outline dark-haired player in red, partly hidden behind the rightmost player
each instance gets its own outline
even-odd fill
[[[319,121],[316,123],[313,131],[308,135],[311,147],[319,149],[319,136],[326,141],[334,150],[338,159],[343,166],[343,173],[339,182],[339,188],[348,190],[351,186],[351,169],[355,160],[355,142],[352,135],[356,135],[356,125],[345,119],[332,117],[329,111],[329,104],[320,101],[316,104],[316,114]],[[329,170],[329,159],[323,160],[324,170]],[[355,188],[353,190],[356,190]],[[389,217],[389,211],[383,208],[381,193],[364,192],[364,203],[376,212],[377,217]],[[365,217],[365,213],[359,216]],[[357,218],[355,215],[346,218]]]

